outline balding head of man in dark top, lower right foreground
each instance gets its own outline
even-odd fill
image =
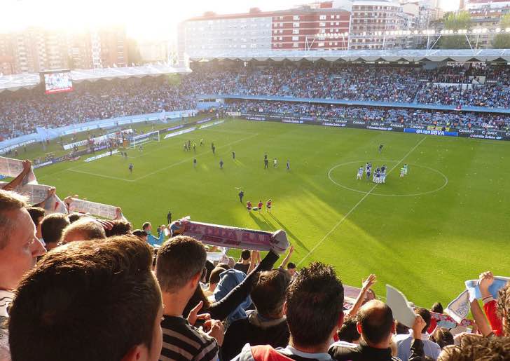
[[[359,308],[357,329],[368,346],[374,348],[390,347],[394,332],[392,309],[382,301],[372,300]]]

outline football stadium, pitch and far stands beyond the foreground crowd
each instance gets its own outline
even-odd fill
[[[455,309],[467,280],[510,262],[509,64],[508,50],[246,50],[188,68],[53,71],[50,85],[0,76],[0,174],[46,214],[124,219],[156,249],[187,216],[282,230],[284,267],[334,266],[345,309],[366,287],[390,304],[391,285],[413,306],[451,302],[433,320],[465,331],[480,320]],[[215,242],[216,264],[253,246]]]

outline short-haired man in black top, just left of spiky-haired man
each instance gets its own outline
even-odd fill
[[[221,347],[223,360],[231,360],[246,343],[287,346],[289,327],[283,304],[289,282],[290,276],[282,268],[259,273],[250,293],[255,311],[247,311],[247,318],[235,320],[228,327]]]

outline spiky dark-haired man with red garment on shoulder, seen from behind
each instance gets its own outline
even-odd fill
[[[343,322],[343,285],[331,266],[314,262],[291,282],[284,304],[290,339],[286,348],[245,345],[237,360],[331,360],[327,353]]]

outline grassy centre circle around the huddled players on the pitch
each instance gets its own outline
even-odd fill
[[[386,197],[423,196],[425,194],[441,191],[441,189],[448,185],[448,177],[446,177],[443,172],[434,168],[407,163],[409,173],[404,176],[404,178],[401,178],[400,168],[397,166],[404,165],[404,162],[383,160],[378,161],[378,163],[372,162],[372,170],[375,170],[383,164],[385,164],[388,169],[386,183],[375,186],[375,183],[372,182],[372,176],[370,180],[367,180],[365,173],[363,179],[356,179],[358,168],[360,166],[364,167],[365,164],[366,161],[352,161],[337,164],[329,170],[328,178],[333,184],[349,191],[363,194],[370,193],[374,196]],[[342,179],[342,181],[340,182],[338,179]],[[371,191],[372,189],[373,191]],[[388,193],[381,192],[380,189],[387,189]],[[399,191],[396,191],[397,189],[399,189]]]

